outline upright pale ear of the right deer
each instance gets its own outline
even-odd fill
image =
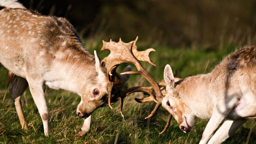
[[[169,87],[169,88],[174,87],[174,76],[173,76],[170,65],[166,65],[164,68],[164,81],[166,83],[166,87]]]

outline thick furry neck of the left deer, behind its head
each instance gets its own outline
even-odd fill
[[[86,85],[97,76],[95,59],[89,52],[68,51],[68,54],[55,54],[50,71],[44,75],[45,84],[53,89],[64,89],[81,95]],[[62,55],[61,59],[56,57]]]

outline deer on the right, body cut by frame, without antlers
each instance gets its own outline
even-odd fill
[[[164,69],[166,94],[162,106],[182,131],[194,128],[194,119],[210,119],[200,144],[222,143],[256,118],[256,46],[228,55],[211,73],[175,81],[171,67]]]

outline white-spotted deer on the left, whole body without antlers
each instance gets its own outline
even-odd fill
[[[45,16],[26,9],[17,0],[0,0],[0,63],[9,71],[9,91],[22,129],[28,130],[21,96],[29,86],[41,116],[45,136],[49,136],[49,111],[43,85],[64,89],[81,96],[78,117],[84,119],[82,131],[91,125],[91,114],[108,105],[109,80],[100,59],[83,46],[74,27],[65,19]],[[128,66],[124,72],[131,70]],[[129,75],[115,74],[116,91],[124,87]],[[111,94],[110,100],[118,100]]]

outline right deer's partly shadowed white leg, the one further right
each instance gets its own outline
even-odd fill
[[[215,132],[215,134],[209,140],[208,144],[221,144],[227,138],[232,136],[235,131],[246,121],[247,119],[226,120]]]

